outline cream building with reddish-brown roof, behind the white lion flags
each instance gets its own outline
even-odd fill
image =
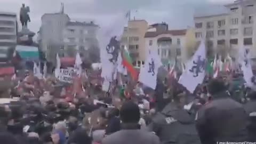
[[[188,31],[189,29],[169,30],[166,23],[151,25],[145,34],[146,47],[157,50],[165,66],[168,63],[173,65],[175,60],[186,62]]]

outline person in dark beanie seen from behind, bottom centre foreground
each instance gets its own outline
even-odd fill
[[[102,144],[160,143],[159,138],[154,133],[140,130],[138,124],[140,109],[137,104],[132,101],[124,102],[120,110],[120,117],[122,120],[121,130],[107,135],[102,140]]]

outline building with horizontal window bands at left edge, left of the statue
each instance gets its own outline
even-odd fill
[[[16,13],[0,12],[0,62],[6,62],[8,50],[17,44]]]

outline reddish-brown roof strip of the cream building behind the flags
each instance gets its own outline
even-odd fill
[[[167,30],[167,31],[148,31],[145,34],[145,37],[156,37],[162,34],[171,34],[173,36],[181,36],[186,35],[187,29],[179,29],[179,30]]]

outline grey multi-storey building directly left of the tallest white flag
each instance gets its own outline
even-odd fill
[[[64,47],[62,51],[68,51],[69,53],[63,52],[63,56],[65,54],[72,56],[73,50],[86,54],[86,50],[88,50],[89,47],[96,47],[98,45],[98,29],[99,26],[95,25],[93,22],[67,22],[63,36]]]

